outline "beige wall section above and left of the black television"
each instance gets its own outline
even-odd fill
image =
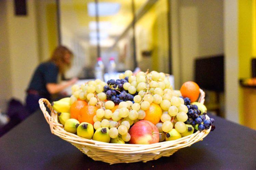
[[[173,72],[178,88],[193,80],[194,59],[224,53],[223,0],[172,0],[171,12]]]

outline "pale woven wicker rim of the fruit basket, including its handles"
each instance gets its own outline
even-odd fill
[[[200,89],[200,98],[199,102],[204,103],[204,96],[205,93],[203,90]],[[51,110],[51,115],[46,111],[45,105]],[[104,150],[107,152],[114,152],[114,153],[157,153],[159,151],[164,150],[170,150],[170,149],[180,149],[187,146],[192,145],[193,143],[203,140],[205,136],[208,135],[208,133],[211,130],[211,127],[208,130],[203,130],[201,132],[197,131],[196,133],[193,133],[191,135],[181,137],[176,140],[170,140],[170,141],[163,141],[158,143],[152,143],[147,145],[142,144],[122,144],[122,143],[106,143],[101,141],[96,141],[92,139],[86,139],[83,137],[80,137],[76,134],[72,134],[69,132],[66,132],[63,128],[63,125],[58,123],[57,115],[58,113],[53,110],[50,102],[47,99],[40,99],[39,100],[40,108],[44,114],[44,117],[48,124],[50,125],[50,129],[52,134],[62,138],[63,140],[66,140],[72,144],[80,145],[85,148],[97,148],[100,150]],[[205,115],[206,119],[210,119],[208,115]]]

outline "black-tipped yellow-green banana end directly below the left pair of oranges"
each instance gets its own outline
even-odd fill
[[[77,135],[86,139],[92,139],[93,125],[91,123],[82,122],[77,128]]]

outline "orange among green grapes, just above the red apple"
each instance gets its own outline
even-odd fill
[[[153,124],[157,124],[162,116],[162,109],[158,104],[151,103],[146,112],[146,117],[143,120],[148,120]]]

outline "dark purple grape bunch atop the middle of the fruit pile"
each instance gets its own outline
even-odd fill
[[[137,95],[137,92],[132,95],[127,90],[123,89],[123,84],[128,82],[128,77],[124,79],[111,79],[107,81],[106,86],[104,86],[104,92],[107,95],[107,100],[119,104],[120,102],[130,100],[133,102],[133,97]]]

